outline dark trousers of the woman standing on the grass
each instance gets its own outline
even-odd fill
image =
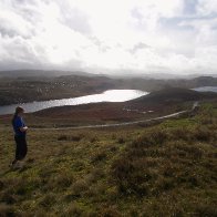
[[[21,161],[25,157],[28,152],[25,135],[16,135],[16,159]]]

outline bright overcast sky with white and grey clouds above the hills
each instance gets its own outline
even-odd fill
[[[217,0],[0,0],[0,70],[217,74]]]

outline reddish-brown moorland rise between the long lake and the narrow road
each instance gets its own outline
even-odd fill
[[[192,108],[195,101],[215,100],[216,93],[165,89],[127,102],[56,106],[35,112],[33,115],[37,118],[45,118],[46,122],[58,122],[55,126],[120,123],[168,115]]]

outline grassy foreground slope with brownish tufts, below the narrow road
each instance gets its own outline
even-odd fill
[[[30,130],[17,170],[0,134],[1,216],[217,215],[217,103],[149,127]]]

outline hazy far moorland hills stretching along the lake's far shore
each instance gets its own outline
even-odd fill
[[[7,71],[0,72],[0,105],[76,97],[111,89],[156,92],[164,89],[195,89],[200,86],[217,86],[217,78],[200,76],[190,80],[111,79],[84,72]]]

